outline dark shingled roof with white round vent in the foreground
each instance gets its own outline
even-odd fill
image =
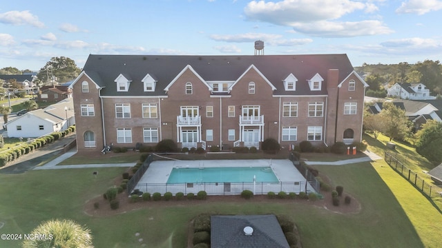
[[[269,215],[211,216],[212,248],[289,248],[278,219]]]

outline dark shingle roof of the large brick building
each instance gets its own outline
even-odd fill
[[[186,65],[206,81],[236,81],[251,65],[276,87],[273,94],[320,95],[327,87],[310,91],[307,80],[316,73],[327,82],[329,69],[339,70],[339,83],[353,72],[346,54],[265,55],[265,56],[168,56],[168,55],[89,55],[84,72],[97,85],[105,87],[104,96],[162,96],[164,88]],[[293,73],[298,79],[296,91],[285,91],[282,81]],[[128,92],[117,92],[115,79],[119,74],[130,76]],[[155,92],[144,92],[141,80],[150,74],[157,79]]]

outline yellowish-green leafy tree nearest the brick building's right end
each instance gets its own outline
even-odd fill
[[[407,116],[405,116],[405,110],[401,110],[393,103],[383,103],[383,110],[379,114],[385,118],[382,132],[390,138],[390,141],[394,138],[403,139],[410,132],[411,125]]]

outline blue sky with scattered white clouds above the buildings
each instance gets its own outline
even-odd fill
[[[0,68],[88,54],[347,54],[363,63],[442,56],[442,0],[5,1]]]

